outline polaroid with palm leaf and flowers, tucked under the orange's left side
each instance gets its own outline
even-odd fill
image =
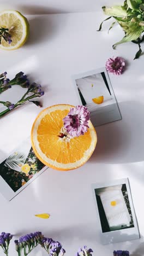
[[[30,137],[0,162],[0,193],[8,201],[48,168],[35,156]]]

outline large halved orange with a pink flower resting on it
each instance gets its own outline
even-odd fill
[[[84,135],[70,139],[62,136],[63,118],[71,107],[74,106],[59,104],[46,108],[32,126],[31,141],[35,155],[43,164],[56,170],[68,171],[82,166],[97,143],[91,121]]]

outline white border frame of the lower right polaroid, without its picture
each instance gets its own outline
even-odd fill
[[[121,230],[109,231],[109,232],[103,233],[102,229],[101,229],[99,210],[98,210],[98,205],[97,205],[97,199],[95,196],[95,189],[105,188],[105,187],[110,187],[110,186],[120,185],[120,184],[125,184],[127,187],[129,203],[130,203],[130,208],[131,208],[131,214],[133,216],[133,221],[134,221],[134,228],[127,228],[127,229],[121,229]],[[129,179],[124,178],[124,179],[116,179],[114,181],[107,181],[104,183],[95,183],[95,184],[92,184],[91,187],[92,187],[93,199],[94,199],[94,203],[95,203],[95,207],[96,207],[96,211],[97,211],[97,218],[98,218],[98,222],[99,222],[100,242],[103,245],[107,245],[109,243],[118,243],[118,242],[125,242],[125,241],[129,241],[129,240],[139,239],[140,231],[139,231],[139,226],[137,224],[136,214],[135,214],[133,200],[132,200],[132,196],[131,196]]]

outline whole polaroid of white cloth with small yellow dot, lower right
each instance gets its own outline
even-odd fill
[[[129,180],[92,184],[103,245],[140,238]]]

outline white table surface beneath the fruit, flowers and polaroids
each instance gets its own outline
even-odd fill
[[[120,28],[107,34],[110,22],[96,32],[102,13],[29,16],[30,38],[16,51],[1,50],[1,71],[9,78],[23,71],[45,89],[43,106],[57,103],[77,104],[71,74],[103,67],[108,57],[122,56],[127,71],[119,77],[110,75],[122,120],[97,127],[98,144],[83,167],[69,172],[49,168],[12,201],[0,195],[0,232],[11,232],[15,238],[36,230],[60,241],[68,256],[80,246],[93,248],[94,255],[112,255],[113,249],[127,249],[133,256],[143,255],[143,167],[144,167],[144,75],[143,56],[133,61],[137,46],[112,44],[122,38]],[[9,90],[10,91],[10,90]],[[11,90],[11,94],[14,91]],[[41,109],[26,104],[0,120],[0,155],[10,152],[27,138]],[[107,246],[100,245],[98,220],[91,183],[111,179],[130,180],[139,222],[141,239]],[[49,212],[50,219],[34,214]],[[16,255],[10,245],[10,256]],[[40,248],[31,255],[46,255]]]

